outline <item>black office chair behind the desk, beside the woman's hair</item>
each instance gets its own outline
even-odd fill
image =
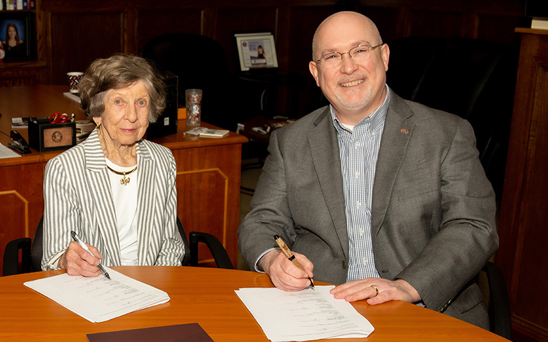
[[[185,105],[186,89],[201,89],[202,120],[236,131],[238,119],[231,109],[237,105],[231,96],[234,78],[219,42],[198,34],[164,34],[149,40],[140,55],[179,77],[179,106]]]

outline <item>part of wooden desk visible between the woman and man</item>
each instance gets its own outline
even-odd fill
[[[232,132],[223,138],[189,137],[187,130],[186,120],[179,120],[177,134],[153,140],[170,148],[177,163],[177,215],[187,235],[201,231],[216,236],[236,265],[242,143],[247,138]],[[198,255],[200,264],[213,261],[203,244]]]

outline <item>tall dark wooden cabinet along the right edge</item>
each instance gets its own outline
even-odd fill
[[[508,282],[514,341],[548,341],[548,31],[516,31],[521,52],[496,263]]]

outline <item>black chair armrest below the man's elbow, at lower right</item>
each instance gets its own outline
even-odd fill
[[[482,272],[487,276],[489,289],[489,324],[490,331],[512,341],[512,315],[508,290],[501,269],[488,261]]]

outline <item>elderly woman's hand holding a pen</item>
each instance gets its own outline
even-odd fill
[[[93,255],[87,250],[84,250],[76,241],[72,241],[71,244],[69,244],[69,248],[67,248],[66,252],[61,256],[59,267],[66,269],[66,273],[71,276],[99,276],[101,270],[97,265],[99,265],[103,256],[94,246],[88,245],[88,248]],[[94,257],[94,255],[97,257]]]

